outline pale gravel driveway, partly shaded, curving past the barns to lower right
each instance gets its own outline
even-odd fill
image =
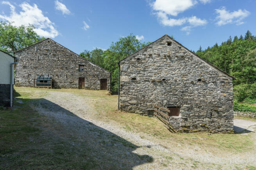
[[[39,91],[45,93],[41,99],[35,99],[31,105],[41,114],[52,119],[66,134],[79,141],[88,141],[90,147],[98,148],[95,157],[102,154],[109,156],[108,161],[126,169],[235,169],[246,165],[256,166],[256,152],[244,154],[228,154],[226,157],[211,152],[201,152],[199,147],[182,148],[178,146],[164,147],[153,137],[149,140],[141,138],[138,133],[130,132],[111,121],[98,120],[99,114],[91,107],[91,99],[86,96],[61,91]],[[256,131],[256,122],[245,125],[248,121],[235,120],[235,126]],[[248,131],[248,132],[249,132]],[[68,134],[68,135],[67,135]],[[245,133],[246,134],[246,133]],[[255,135],[254,135],[255,138]],[[75,142],[74,142],[75,141]],[[111,161],[110,161],[111,160]]]

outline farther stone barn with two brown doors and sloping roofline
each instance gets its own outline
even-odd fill
[[[111,90],[111,73],[52,39],[16,51],[16,86],[33,86],[38,76],[52,77],[54,88]]]

